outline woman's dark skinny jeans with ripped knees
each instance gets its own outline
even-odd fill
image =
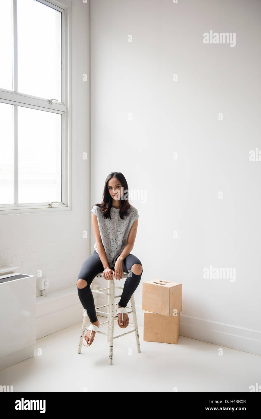
[[[121,307],[127,306],[130,300],[130,297],[132,296],[132,294],[134,293],[134,291],[140,284],[142,273],[140,275],[136,275],[131,270],[132,265],[136,263],[142,265],[140,259],[132,255],[131,253],[129,253],[129,255],[126,256],[126,258],[123,259],[122,261],[123,271],[129,272],[129,274],[128,274],[128,277],[125,279],[121,299],[119,300],[119,303],[118,303],[118,305],[120,305]],[[93,279],[96,277],[96,275],[99,272],[103,272],[103,271],[104,269],[103,269],[103,264],[101,263],[100,256],[95,250],[93,253],[90,254],[90,256],[88,256],[87,259],[85,259],[78,275],[78,279],[85,279],[85,281],[87,282],[86,287],[84,288],[77,287],[77,289],[78,289],[78,296],[80,298],[80,302],[82,303],[83,308],[86,310],[88,314],[90,323],[94,323],[98,320],[96,316],[96,311],[95,311],[93,293],[90,289],[90,285],[93,282]],[[142,272],[143,272],[143,269],[142,269]]]

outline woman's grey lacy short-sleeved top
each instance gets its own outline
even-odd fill
[[[124,220],[119,216],[119,211],[119,209],[111,207],[111,220],[109,220],[109,218],[106,219],[103,217],[101,208],[97,205],[94,205],[91,209],[91,212],[97,217],[101,241],[111,269],[115,265],[116,258],[127,245],[129,230],[132,224],[140,217],[138,210],[132,205],[128,210],[129,214],[124,215]],[[98,253],[96,242],[94,249]]]

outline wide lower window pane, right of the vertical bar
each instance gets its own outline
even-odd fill
[[[62,116],[18,106],[18,203],[61,202]]]

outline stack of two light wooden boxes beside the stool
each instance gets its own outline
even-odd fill
[[[182,311],[182,284],[150,279],[142,285],[143,339],[176,344]]]

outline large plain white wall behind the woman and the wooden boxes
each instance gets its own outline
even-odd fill
[[[261,162],[248,155],[261,148],[260,13],[254,0],[90,4],[90,207],[111,171],[146,191],[131,202],[142,281],[182,282],[181,335],[258,354]],[[235,47],[203,44],[210,30],[235,32]],[[203,279],[211,265],[236,280]],[[135,300],[143,313],[142,284]]]

